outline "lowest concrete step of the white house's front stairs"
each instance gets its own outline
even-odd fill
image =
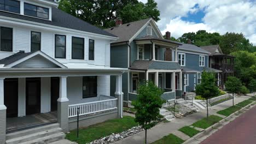
[[[63,139],[65,139],[65,136],[66,136],[66,135],[61,132],[61,133],[57,133],[57,134],[53,134],[53,135],[41,137],[41,138],[38,138],[38,139],[34,139],[34,140],[31,140],[31,141],[22,142],[22,143],[20,143],[20,144],[43,144],[43,143],[51,143],[51,142],[63,140]]]

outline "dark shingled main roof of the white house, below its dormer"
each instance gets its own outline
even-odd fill
[[[38,23],[43,23],[45,25],[75,29],[78,31],[108,35],[110,37],[117,37],[114,34],[108,33],[101,28],[93,26],[90,23],[80,20],[77,17],[67,14],[64,11],[57,8],[52,8],[51,21],[38,19],[35,17],[25,16],[25,15],[20,15],[20,14],[8,13],[5,11],[0,11],[0,16],[19,19],[19,20],[26,20],[31,22],[38,22]]]

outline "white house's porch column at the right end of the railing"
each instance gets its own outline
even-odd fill
[[[117,75],[115,77],[115,97],[118,99],[118,117],[123,118],[123,95],[122,92],[122,75]]]

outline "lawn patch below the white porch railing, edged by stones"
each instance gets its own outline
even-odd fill
[[[79,138],[77,139],[76,130],[66,135],[66,139],[77,143],[87,143],[108,136],[112,133],[120,133],[138,125],[134,121],[135,118],[124,116],[123,118],[111,119],[109,121],[91,125],[86,128],[79,129]]]

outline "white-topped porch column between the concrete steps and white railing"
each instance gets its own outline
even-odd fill
[[[67,98],[67,77],[60,77],[60,96],[58,101],[58,123],[63,132],[68,132],[68,98]]]

